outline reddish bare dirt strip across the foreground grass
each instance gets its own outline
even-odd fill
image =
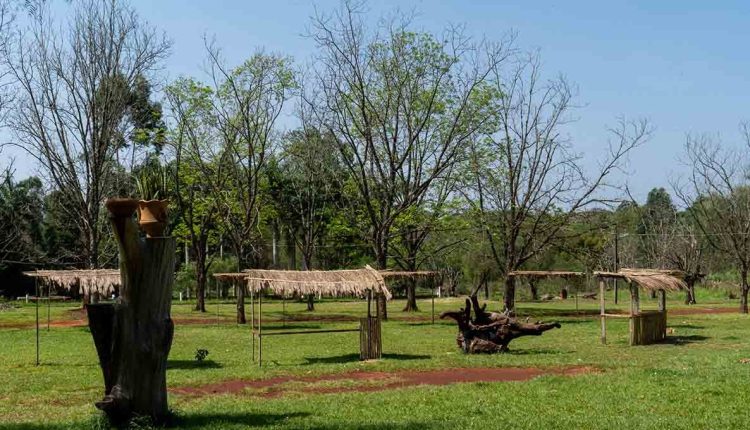
[[[326,394],[372,392],[418,385],[450,385],[465,382],[528,381],[542,375],[573,376],[597,370],[587,366],[540,368],[458,368],[427,371],[348,372],[318,377],[281,376],[259,380],[230,380],[170,391],[185,396],[248,393],[257,397],[280,397],[290,393]]]

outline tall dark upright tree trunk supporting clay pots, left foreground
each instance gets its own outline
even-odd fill
[[[174,334],[170,309],[175,241],[142,238],[133,211],[107,207],[120,249],[122,286],[114,305],[89,308],[105,385],[104,399],[96,407],[112,422],[133,415],[162,422],[168,415],[167,356]]]

